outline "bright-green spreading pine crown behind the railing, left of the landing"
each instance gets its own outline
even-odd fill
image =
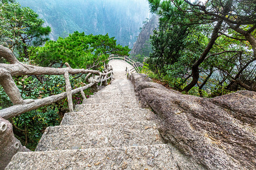
[[[106,35],[85,35],[84,32],[74,32],[66,38],[59,37],[57,41],[47,41],[38,50],[35,62],[42,66],[51,66],[68,62],[73,68],[97,68],[107,61],[109,54],[125,56],[128,46],[116,44],[114,37]]]

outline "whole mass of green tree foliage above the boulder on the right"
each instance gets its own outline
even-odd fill
[[[220,36],[214,41],[208,55],[197,66],[211,40],[213,28],[216,26],[213,18],[218,13],[205,15],[198,2],[195,2],[195,6],[181,0],[148,2],[151,12],[160,16],[160,22],[158,31],[151,36],[153,52],[146,62],[148,68],[158,74],[160,79],[166,80],[172,88],[182,91],[191,83],[192,77],[194,80],[192,75],[196,74],[192,70],[197,67],[199,79],[188,94],[213,97],[243,89],[234,83],[234,79],[242,80],[247,86],[255,86],[256,59],[253,47],[249,41],[245,41],[241,33],[233,28],[226,28],[225,24],[220,28]],[[223,10],[225,4],[226,1],[222,0],[207,1],[205,7],[212,10],[213,14],[216,8]],[[238,4],[243,4],[247,10],[237,6]],[[254,6],[251,3],[232,1],[232,10],[237,16],[232,16],[230,12],[226,18],[233,18],[234,22],[240,20],[241,23],[246,20],[253,23],[255,17],[249,14],[255,10]],[[253,24],[243,24],[240,28],[244,31],[251,29],[255,36]],[[226,35],[221,36],[224,34]]]

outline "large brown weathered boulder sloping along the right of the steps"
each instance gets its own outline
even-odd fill
[[[256,93],[205,99],[134,74],[135,91],[161,118],[164,140],[207,169],[256,169]]]

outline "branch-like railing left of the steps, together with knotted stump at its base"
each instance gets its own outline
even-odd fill
[[[80,92],[83,99],[85,99],[84,90],[86,90],[86,88],[92,87],[97,89],[98,83],[100,83],[100,85],[103,83],[106,86],[108,84],[107,80],[113,79],[113,69],[111,66],[106,66],[105,69],[100,72],[98,70],[72,69],[68,63],[65,63],[67,67],[63,69],[26,65],[19,62],[10,49],[1,45],[0,58],[4,58],[9,62],[9,64],[0,63],[0,85],[13,103],[13,106],[0,110],[0,169],[5,168],[16,152],[30,151],[26,147],[23,147],[18,139],[14,137],[13,126],[7,119],[53,104],[66,97],[68,98],[69,111],[73,112],[72,95]],[[72,90],[71,83],[69,82],[70,74],[85,74],[84,81],[88,84]],[[13,80],[13,76],[20,75],[63,75],[65,78],[66,92],[43,99],[23,100],[19,88]]]

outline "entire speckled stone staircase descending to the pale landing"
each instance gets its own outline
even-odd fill
[[[36,151],[18,152],[6,169],[179,169],[154,113],[141,108],[127,80],[127,64],[110,64],[113,83],[47,128]]]

